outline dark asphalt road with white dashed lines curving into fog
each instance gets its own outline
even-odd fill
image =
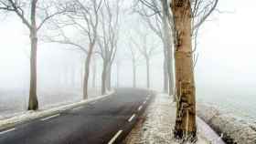
[[[153,94],[120,88],[101,100],[0,131],[0,144],[120,143]]]

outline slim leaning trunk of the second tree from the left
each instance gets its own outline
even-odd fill
[[[90,44],[89,46],[89,51],[86,57],[85,61],[85,71],[84,71],[84,79],[83,79],[83,98],[87,99],[88,98],[88,82],[89,82],[89,75],[90,75],[90,64],[91,64],[91,55],[92,55],[92,50],[93,50],[94,44]]]

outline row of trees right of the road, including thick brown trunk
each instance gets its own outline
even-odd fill
[[[136,0],[134,11],[163,40],[164,74],[168,92],[176,100],[178,139],[196,139],[196,88],[194,67],[197,33],[219,0]],[[175,70],[173,70],[175,69]],[[167,78],[168,77],[168,78]],[[173,78],[175,77],[175,78]],[[165,91],[167,82],[164,82]],[[175,87],[175,88],[174,88]]]

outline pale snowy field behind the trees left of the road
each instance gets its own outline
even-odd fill
[[[101,95],[100,88],[90,88],[89,98]],[[39,109],[68,104],[82,99],[82,89],[40,89],[38,90]],[[28,95],[25,90],[0,90],[0,119],[14,116],[27,110]]]

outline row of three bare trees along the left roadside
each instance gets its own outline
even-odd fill
[[[37,41],[70,45],[85,54],[83,98],[88,98],[91,57],[103,60],[102,90],[111,88],[111,67],[119,38],[120,0],[0,0],[0,10],[15,14],[27,26],[31,44],[28,109],[37,110]],[[41,29],[51,29],[50,35]],[[68,34],[76,32],[77,36]],[[95,46],[100,50],[95,50]]]

